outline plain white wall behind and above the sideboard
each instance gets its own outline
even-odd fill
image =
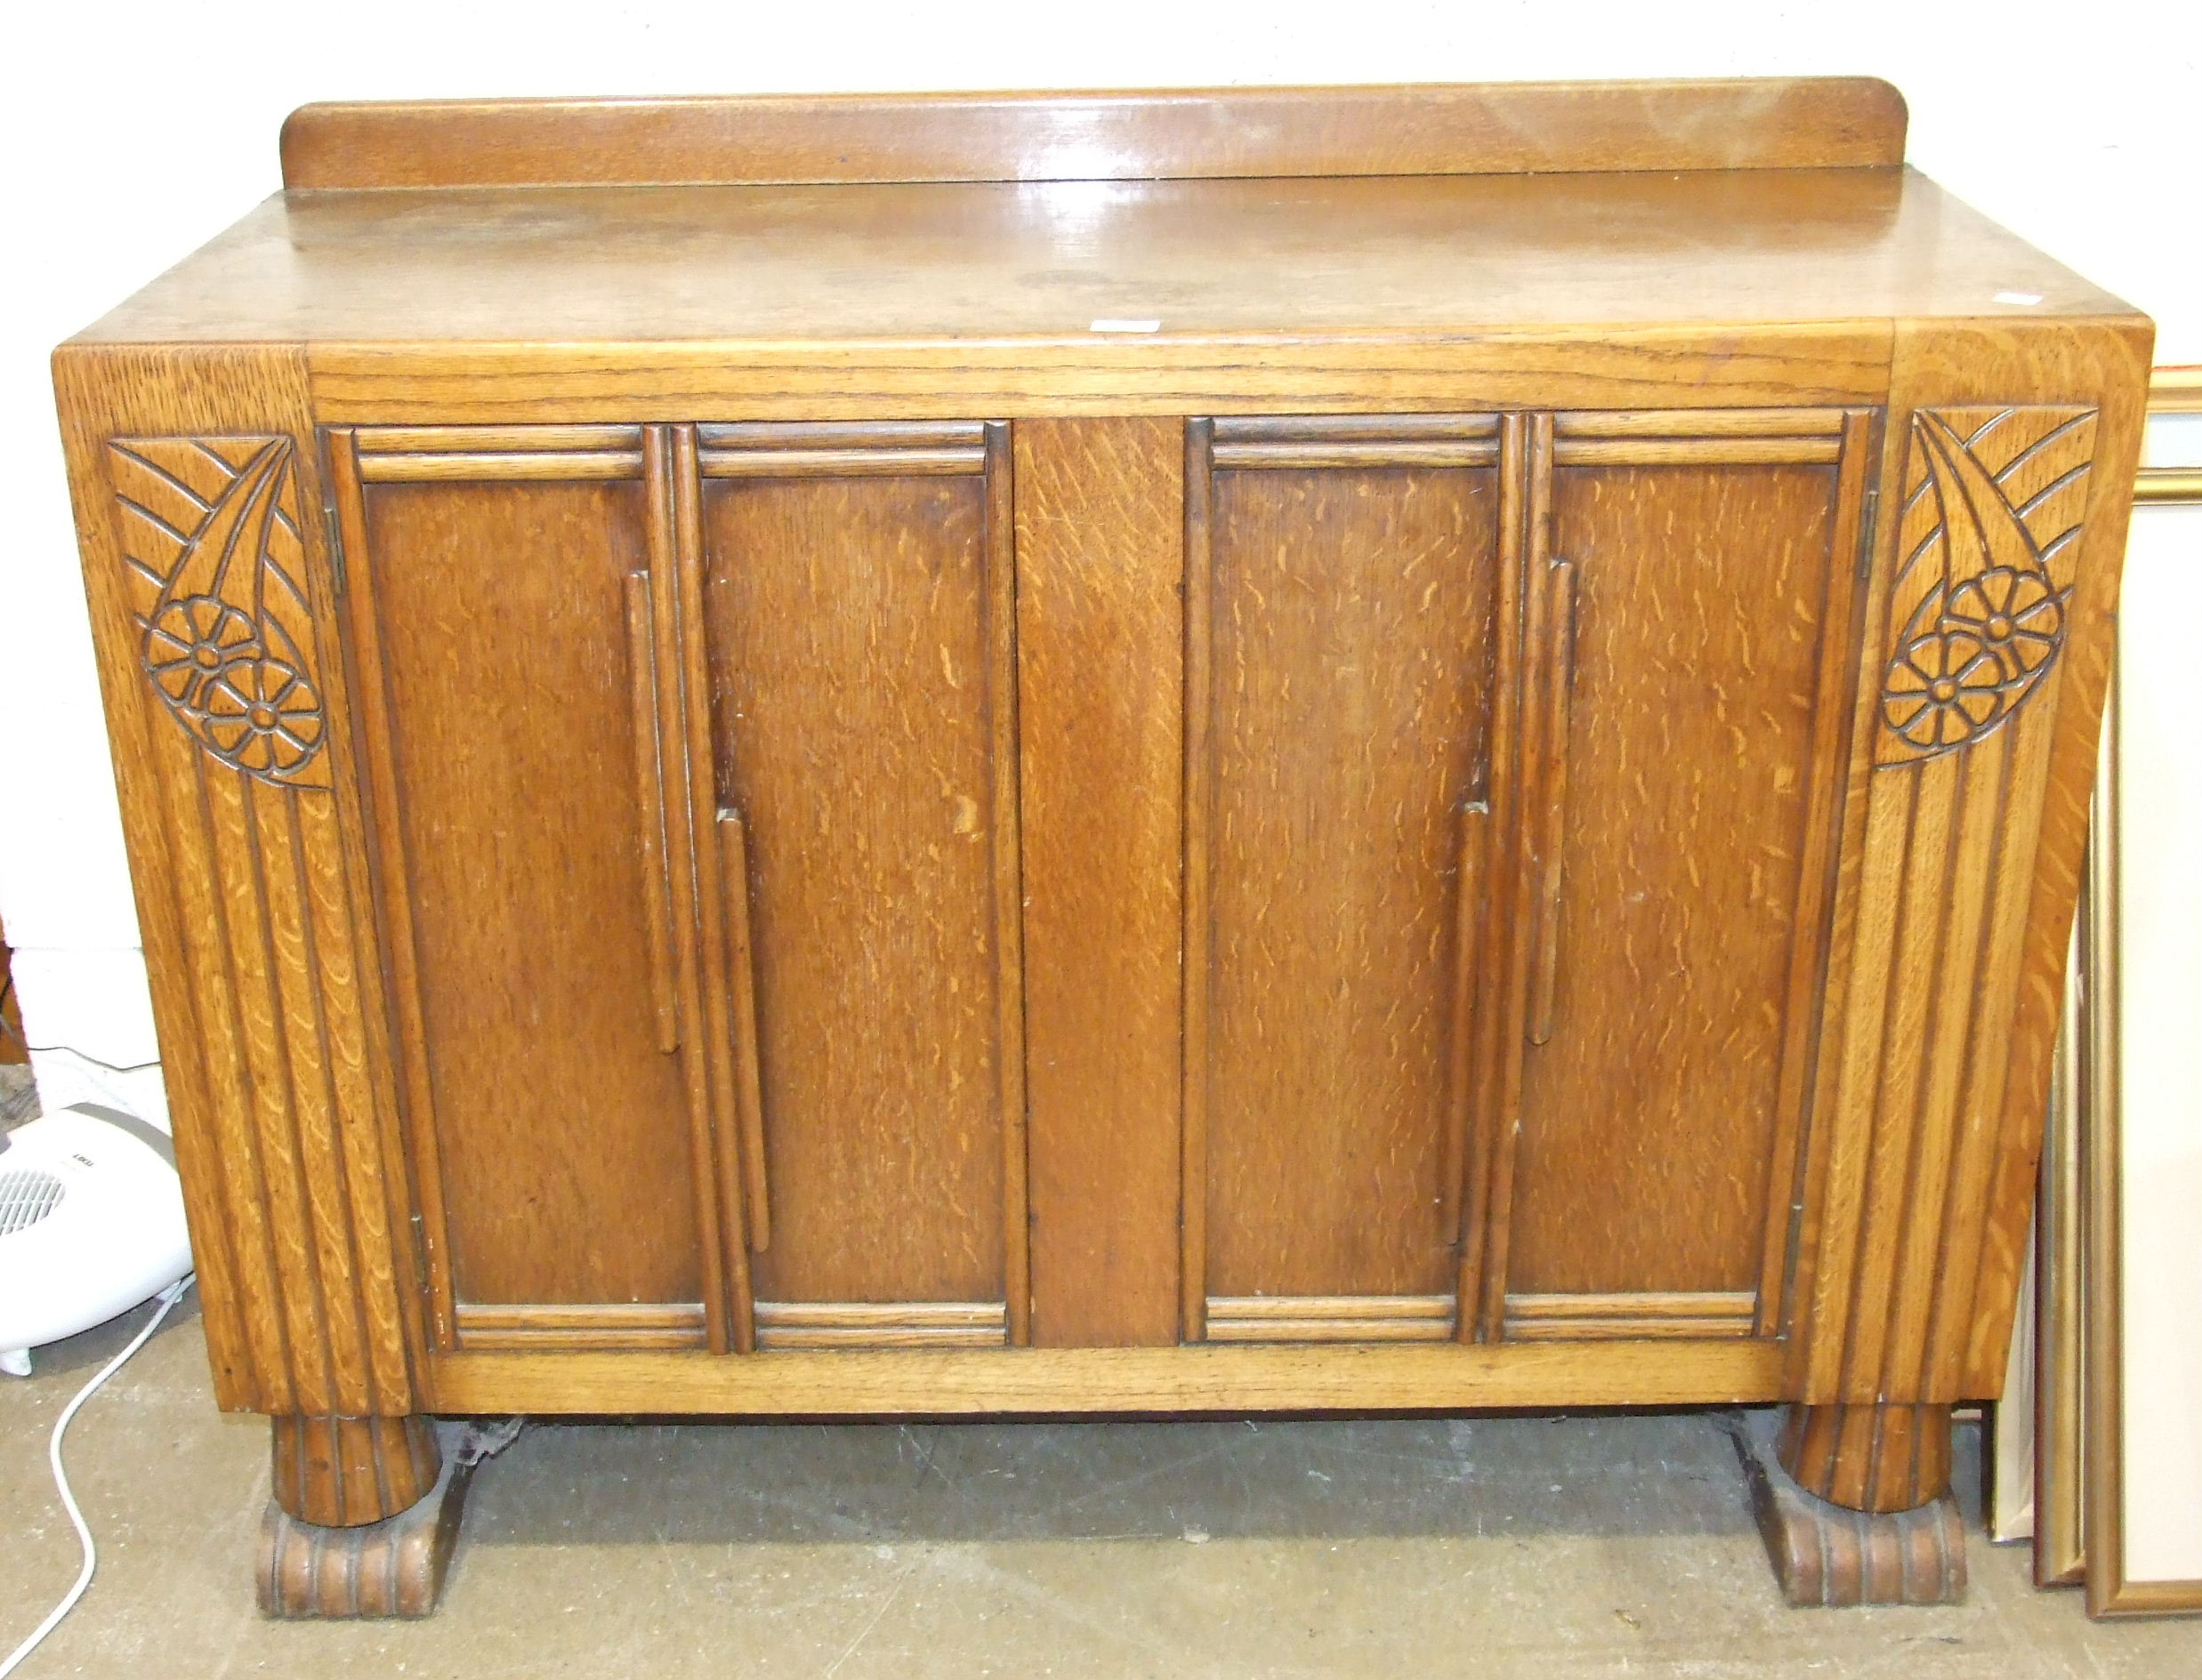
[[[1920,167],[2202,361],[2195,0],[20,0],[0,48],[0,920],[48,1103],[159,1083],[110,1072],[154,1048],[46,352],[271,192],[308,99],[1869,73]]]

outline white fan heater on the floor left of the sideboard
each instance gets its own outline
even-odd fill
[[[192,1270],[167,1134],[75,1103],[0,1134],[0,1370]]]

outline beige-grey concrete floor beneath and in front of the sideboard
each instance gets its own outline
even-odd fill
[[[0,1378],[0,1649],[77,1570],[46,1431],[143,1317]],[[178,1308],[70,1429],[99,1579],[22,1673],[2202,1673],[2202,1625],[2092,1625],[1977,1526],[1960,1607],[1786,1610],[1726,1422],[537,1425],[434,1621],[262,1623],[266,1425]]]

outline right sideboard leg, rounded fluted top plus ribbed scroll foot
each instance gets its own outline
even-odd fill
[[[1744,1431],[1737,1449],[1792,1605],[1964,1599],[1947,1405],[1790,1407],[1779,1442]]]

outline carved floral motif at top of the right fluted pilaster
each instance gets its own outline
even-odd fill
[[[2065,636],[2092,454],[2094,410],[1911,416],[1883,766],[1969,746],[2048,676]]]

